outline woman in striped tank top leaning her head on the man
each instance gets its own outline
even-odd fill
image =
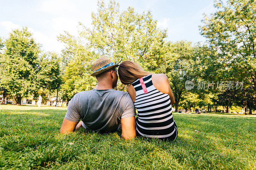
[[[165,74],[150,74],[133,61],[119,65],[118,74],[127,87],[134,106],[137,136],[174,140],[178,130],[172,118],[175,103],[169,80]]]

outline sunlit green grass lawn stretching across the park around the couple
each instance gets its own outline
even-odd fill
[[[80,129],[67,108],[0,105],[0,169],[256,169],[256,116],[174,113],[175,141]]]

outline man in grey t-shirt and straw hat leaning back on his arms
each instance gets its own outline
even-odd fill
[[[127,92],[113,89],[117,84],[118,66],[106,56],[92,62],[91,75],[96,76],[98,84],[71,99],[60,133],[69,133],[82,126],[92,131],[116,131],[121,123],[122,138],[136,136],[136,113],[132,99]]]

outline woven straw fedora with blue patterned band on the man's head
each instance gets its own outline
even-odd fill
[[[103,73],[104,71],[107,71],[110,68],[118,66],[118,64],[113,63],[112,60],[110,60],[107,56],[103,55],[99,59],[92,62],[93,73],[91,74],[91,76],[98,75],[100,73]]]

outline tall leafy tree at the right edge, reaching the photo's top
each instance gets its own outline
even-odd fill
[[[256,91],[256,3],[254,0],[228,0],[215,3],[218,9],[205,16],[200,26],[207,39],[202,50],[204,78],[244,80]]]

